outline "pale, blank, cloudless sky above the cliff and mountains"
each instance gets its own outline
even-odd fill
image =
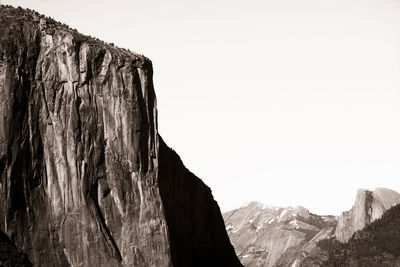
[[[222,211],[400,191],[400,0],[1,0],[153,61],[159,132]]]

